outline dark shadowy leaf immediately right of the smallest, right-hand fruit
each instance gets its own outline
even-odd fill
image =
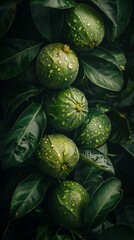
[[[130,136],[127,119],[116,111],[109,112],[112,130],[109,140],[112,143],[125,143]]]

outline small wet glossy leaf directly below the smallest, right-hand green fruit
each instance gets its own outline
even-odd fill
[[[87,164],[91,164],[93,167],[114,174],[114,167],[111,160],[98,149],[91,147],[81,147],[79,151],[80,159]]]

